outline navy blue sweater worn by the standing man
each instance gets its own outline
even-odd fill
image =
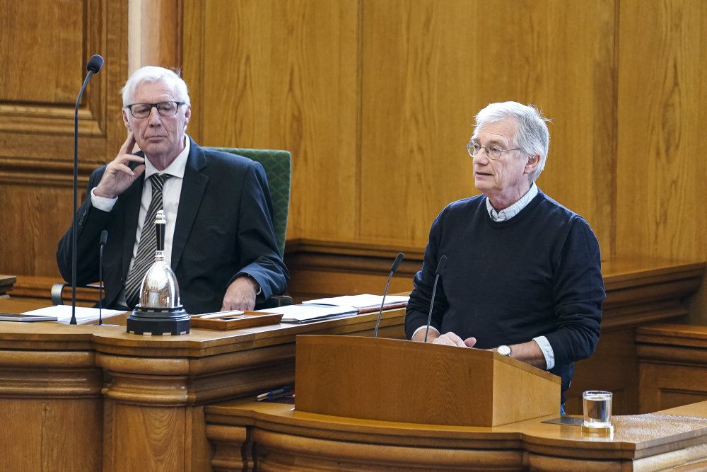
[[[604,301],[599,243],[585,219],[538,192],[515,217],[493,221],[486,197],[452,202],[432,224],[422,270],[414,280],[405,332],[427,324],[435,270],[440,275],[431,326],[481,349],[544,335],[562,391],[573,362],[599,340]]]

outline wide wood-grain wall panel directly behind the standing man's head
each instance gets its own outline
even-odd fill
[[[614,1],[366,2],[362,61],[364,239],[426,243],[446,203],[478,193],[474,114],[517,100],[555,121],[539,185],[611,252]]]

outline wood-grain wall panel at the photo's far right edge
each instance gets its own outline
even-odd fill
[[[621,1],[617,253],[707,256],[707,3]]]

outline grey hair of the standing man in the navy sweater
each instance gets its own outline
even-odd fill
[[[488,123],[498,122],[506,118],[514,118],[518,123],[513,141],[522,152],[530,156],[540,156],[540,161],[532,173],[530,181],[534,182],[545,168],[547,153],[550,149],[550,132],[546,122],[549,118],[542,116],[534,105],[522,105],[518,102],[490,103],[477,113],[474,124],[474,134]]]

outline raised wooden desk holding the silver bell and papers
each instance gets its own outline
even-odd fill
[[[376,316],[154,337],[0,322],[0,466],[211,470],[204,405],[293,384],[296,335],[371,335]],[[403,318],[385,312],[380,335]]]

